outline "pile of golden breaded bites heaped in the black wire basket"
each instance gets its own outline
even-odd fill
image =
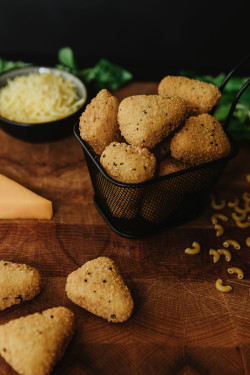
[[[110,177],[144,182],[230,153],[221,124],[208,114],[220,97],[212,84],[173,76],[160,82],[158,95],[120,104],[102,90],[83,112],[80,134]]]

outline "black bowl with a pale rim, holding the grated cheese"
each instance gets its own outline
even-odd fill
[[[0,116],[0,126],[8,134],[13,137],[22,139],[28,142],[47,142],[65,137],[73,132],[74,123],[79,119],[80,114],[87,100],[87,90],[84,83],[71,73],[65,72],[56,68],[29,66],[20,69],[12,69],[0,75],[0,88],[7,85],[9,79],[14,79],[17,76],[23,76],[30,73],[59,73],[65,79],[70,79],[76,84],[76,91],[79,98],[84,98],[84,104],[77,110],[77,112],[64,117],[60,120],[51,122],[43,122],[36,124],[26,124],[16,121],[8,120]]]

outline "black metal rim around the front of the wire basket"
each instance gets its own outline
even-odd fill
[[[132,189],[132,188],[134,189],[134,188],[139,188],[139,187],[143,187],[143,186],[148,186],[148,185],[158,183],[158,182],[161,182],[161,181],[166,181],[166,180],[171,179],[173,177],[183,176],[183,175],[185,175],[189,172],[202,169],[203,167],[209,167],[211,165],[216,165],[217,163],[219,163],[221,161],[229,161],[230,159],[234,158],[238,154],[238,151],[239,151],[239,145],[236,142],[236,140],[231,136],[230,133],[227,132],[226,129],[224,129],[224,131],[225,131],[225,133],[226,133],[226,135],[227,135],[227,137],[230,141],[230,145],[231,145],[231,152],[230,152],[229,155],[224,156],[223,158],[220,158],[220,159],[216,159],[216,160],[212,160],[212,161],[209,161],[209,162],[206,162],[206,163],[203,163],[203,164],[195,165],[195,166],[192,166],[192,167],[187,168],[187,169],[183,169],[183,170],[178,171],[178,172],[170,173],[170,174],[167,174],[165,176],[154,177],[150,180],[139,182],[137,184],[136,183],[128,184],[128,183],[125,183],[125,182],[120,182],[120,181],[114,180],[112,177],[110,177],[107,174],[107,172],[105,171],[105,169],[103,168],[101,163],[94,157],[95,153],[92,150],[92,148],[88,145],[87,142],[85,142],[81,138],[80,130],[79,130],[78,125],[79,125],[79,122],[77,121],[74,125],[74,135],[77,138],[77,140],[79,141],[79,143],[81,144],[84,153],[86,153],[91,158],[92,162],[96,165],[96,167],[99,169],[99,171],[102,173],[102,175],[109,182],[111,182],[112,184],[114,184],[116,186],[128,188],[128,189]]]

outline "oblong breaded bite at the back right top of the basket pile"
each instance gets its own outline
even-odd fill
[[[210,112],[221,98],[220,90],[211,83],[176,76],[163,78],[158,93],[162,97],[179,96],[185,99],[190,115]]]

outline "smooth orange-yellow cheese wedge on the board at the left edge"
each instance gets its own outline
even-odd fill
[[[52,202],[0,174],[0,219],[51,219]]]

